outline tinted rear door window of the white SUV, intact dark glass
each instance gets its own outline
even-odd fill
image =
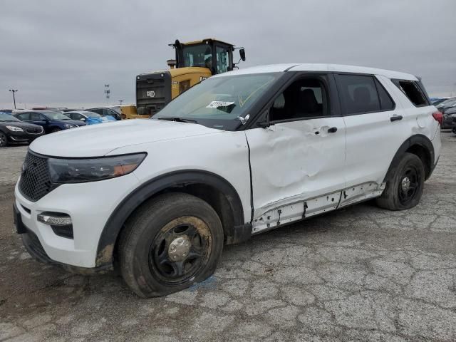
[[[380,111],[372,76],[338,75],[337,81],[347,115]]]

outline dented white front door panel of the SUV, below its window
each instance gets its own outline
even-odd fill
[[[337,128],[336,133],[328,133],[332,127]],[[340,192],[345,187],[343,118],[276,123],[267,129],[247,130],[246,135],[254,219],[273,209]],[[323,207],[322,203],[318,205]]]

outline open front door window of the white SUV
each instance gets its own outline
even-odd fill
[[[271,121],[300,120],[330,115],[328,91],[323,78],[294,81],[277,98],[270,111]]]

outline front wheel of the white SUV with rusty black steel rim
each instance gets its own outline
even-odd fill
[[[120,274],[138,296],[172,294],[214,273],[223,241],[222,222],[207,202],[184,193],[160,195],[125,223]]]

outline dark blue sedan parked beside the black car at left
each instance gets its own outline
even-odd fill
[[[21,121],[42,126],[46,134],[86,125],[83,121],[71,120],[68,116],[54,111],[29,110],[13,115]]]

